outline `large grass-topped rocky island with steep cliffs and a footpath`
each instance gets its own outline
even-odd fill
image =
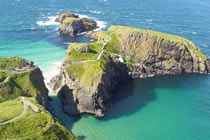
[[[210,60],[192,42],[178,36],[113,26],[92,37],[103,45],[91,47],[88,53],[69,46],[60,74],[51,80],[51,87],[69,114],[103,116],[111,106],[111,90],[122,80],[210,73]],[[96,59],[100,53],[102,56]]]

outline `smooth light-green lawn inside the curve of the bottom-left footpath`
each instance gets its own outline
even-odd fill
[[[0,123],[19,116],[23,111],[23,105],[19,99],[0,104]]]

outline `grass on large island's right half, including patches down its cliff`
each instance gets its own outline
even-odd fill
[[[122,46],[126,45],[127,47],[131,47],[132,45],[134,45],[133,43],[139,42],[141,42],[144,47],[155,47],[153,46],[153,44],[150,44],[149,40],[159,39],[160,41],[167,40],[169,42],[180,43],[180,45],[185,46],[191,52],[192,55],[197,55],[201,60],[207,59],[207,57],[201,52],[200,48],[196,47],[191,41],[180,36],[165,34],[152,30],[139,29],[127,26],[111,26],[108,31],[96,32],[93,34],[93,36],[97,37],[99,40],[102,40],[103,38],[107,39],[110,34],[112,34],[112,40],[107,44],[107,48],[109,48],[109,50],[114,53],[117,53],[117,51],[119,51],[120,47]],[[129,42],[130,44],[122,44],[125,43],[123,41],[128,40],[129,37],[136,38],[133,38],[133,42]],[[142,37],[143,39],[140,39],[138,37]],[[141,48],[136,47],[132,50],[133,53],[139,52],[138,49]]]

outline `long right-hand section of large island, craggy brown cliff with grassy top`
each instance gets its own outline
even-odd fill
[[[207,74],[209,59],[191,41],[184,38],[130,27],[111,27],[116,53],[131,58],[129,74],[133,78],[182,73]]]

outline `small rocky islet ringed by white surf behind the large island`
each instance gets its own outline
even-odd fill
[[[62,35],[75,36],[82,32],[94,30],[97,27],[96,21],[90,18],[80,18],[78,15],[66,12],[55,20],[61,23],[59,32]]]

